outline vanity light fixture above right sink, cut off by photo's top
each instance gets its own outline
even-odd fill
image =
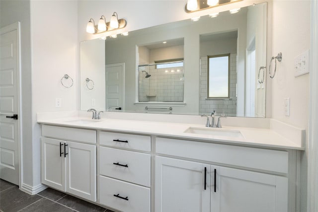
[[[238,1],[241,0],[187,0],[184,9],[186,12],[195,12]]]

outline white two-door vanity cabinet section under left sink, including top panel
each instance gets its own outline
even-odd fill
[[[88,142],[96,141],[95,131],[42,126],[41,180],[52,188],[96,201],[96,145],[75,142],[83,140],[78,138],[83,131],[92,135]],[[73,141],[62,140],[63,133]]]

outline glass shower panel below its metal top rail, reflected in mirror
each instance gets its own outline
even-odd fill
[[[139,102],[183,102],[183,61],[140,65]]]

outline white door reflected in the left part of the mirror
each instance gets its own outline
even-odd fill
[[[125,64],[106,65],[106,110],[124,108]]]

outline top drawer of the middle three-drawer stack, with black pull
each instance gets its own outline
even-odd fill
[[[151,151],[150,136],[99,132],[99,143],[108,146]]]

